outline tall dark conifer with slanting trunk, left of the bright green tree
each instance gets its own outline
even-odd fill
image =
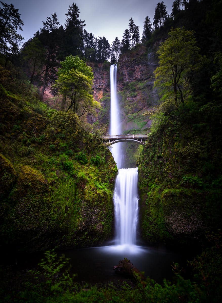
[[[56,62],[56,53],[58,51],[58,28],[60,23],[57,19],[56,13],[52,14],[51,16],[52,18],[46,18],[46,22],[43,22],[43,28],[41,28],[40,33],[36,32],[35,35],[37,38],[39,38],[46,49],[41,101],[43,100],[45,88],[48,85],[48,82],[53,83],[54,75],[56,73],[55,66],[58,65]]]

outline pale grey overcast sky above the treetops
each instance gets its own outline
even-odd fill
[[[112,44],[115,37],[122,40],[131,17],[135,25],[139,26],[142,36],[145,17],[149,16],[153,21],[155,7],[161,0],[2,0],[2,2],[12,3],[19,9],[24,23],[21,32],[23,42],[33,37],[33,34],[43,26],[43,21],[53,13],[56,13],[60,24],[64,25],[65,13],[74,2],[80,10],[79,18],[85,20],[84,29],[93,33],[94,37],[105,36]],[[173,0],[163,2],[170,15]]]

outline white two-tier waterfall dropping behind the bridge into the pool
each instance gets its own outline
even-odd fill
[[[110,67],[111,116],[110,135],[121,134],[120,111],[116,92],[117,65]],[[118,175],[114,190],[115,241],[117,245],[135,245],[138,217],[138,168],[121,168],[121,147],[116,143],[111,149],[117,163]]]

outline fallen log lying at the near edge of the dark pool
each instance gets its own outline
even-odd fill
[[[145,277],[141,271],[138,270],[127,258],[120,260],[118,265],[113,266],[113,269],[117,273],[127,274],[131,278],[135,279],[137,283],[141,283],[145,280]]]

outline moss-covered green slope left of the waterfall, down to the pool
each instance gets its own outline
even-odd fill
[[[27,99],[26,99],[27,100]],[[112,235],[117,168],[74,113],[1,91],[1,245],[40,251]]]

